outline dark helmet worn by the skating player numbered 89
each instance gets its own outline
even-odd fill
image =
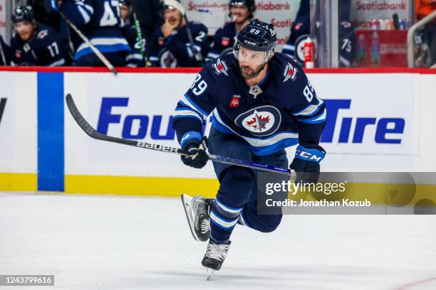
[[[242,31],[239,31],[234,49],[239,46],[249,50],[273,51],[277,45],[277,33],[272,23],[253,19]]]

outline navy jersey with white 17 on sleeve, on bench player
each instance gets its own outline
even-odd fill
[[[34,33],[31,41],[23,41],[18,34],[11,39],[11,65],[64,65],[67,50],[61,36],[41,23]]]

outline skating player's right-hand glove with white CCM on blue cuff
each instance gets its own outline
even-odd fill
[[[295,151],[295,158],[289,168],[296,171],[296,182],[317,183],[319,179],[319,163],[326,156],[326,151],[321,146],[311,149],[299,145]]]

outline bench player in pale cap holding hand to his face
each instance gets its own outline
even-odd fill
[[[161,68],[199,67],[209,50],[207,28],[185,18],[185,8],[176,0],[164,0],[164,23],[150,42],[149,60]],[[193,45],[193,47],[192,47]]]

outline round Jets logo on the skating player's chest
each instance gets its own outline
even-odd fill
[[[240,114],[234,122],[252,135],[268,136],[279,129],[281,114],[276,107],[261,106]]]

